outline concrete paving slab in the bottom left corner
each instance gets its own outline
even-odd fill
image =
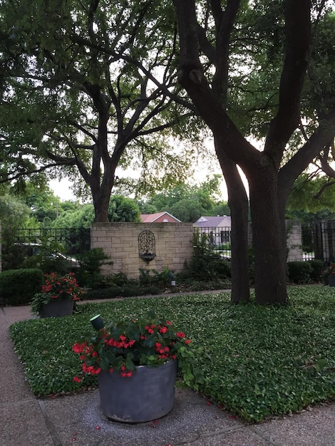
[[[0,419],[1,446],[55,446],[36,400],[1,403]]]

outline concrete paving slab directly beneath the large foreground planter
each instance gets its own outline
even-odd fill
[[[176,391],[170,414],[138,424],[108,420],[100,410],[98,390],[43,402],[64,445],[74,437],[77,446],[166,446],[177,444],[185,437],[198,438],[207,432],[208,425],[212,430],[221,431],[241,425],[215,406],[207,406],[206,400],[192,390]]]

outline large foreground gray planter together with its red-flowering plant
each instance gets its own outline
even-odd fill
[[[108,418],[143,422],[163,417],[172,410],[178,372],[186,385],[202,381],[191,340],[155,313],[96,328],[73,351],[80,355],[82,373],[98,375],[101,408]],[[73,379],[80,382],[82,375]]]

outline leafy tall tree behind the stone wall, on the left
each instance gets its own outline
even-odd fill
[[[157,0],[1,2],[1,61],[19,61],[4,71],[1,181],[46,169],[57,175],[59,166],[79,171],[96,221],[106,222],[118,165],[142,159],[147,183],[153,174],[163,184],[185,177],[193,148],[176,157],[168,136],[190,112],[175,95],[175,19],[172,5],[164,7],[161,14]]]

